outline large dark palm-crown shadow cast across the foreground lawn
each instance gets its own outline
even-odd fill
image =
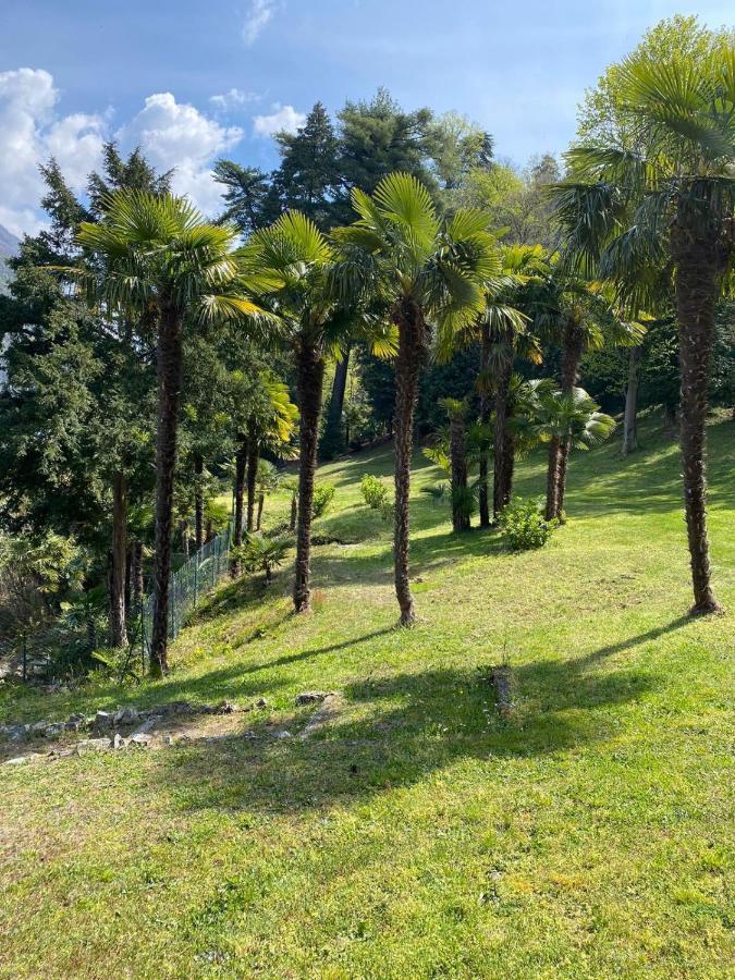
[[[261,724],[252,730],[254,740],[235,735],[160,752],[151,774],[187,811],[326,809],[414,785],[462,759],[486,763],[492,779],[493,760],[604,739],[618,731],[610,709],[653,684],[640,671],[600,673],[575,661],[513,673],[518,707],[510,722],[499,718],[479,671],[403,673],[347,685],[343,720],[338,715],[304,742],[296,736],[313,715],[309,708],[279,723],[294,737],[278,739],[277,730]]]

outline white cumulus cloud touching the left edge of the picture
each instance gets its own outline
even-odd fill
[[[75,189],[99,163],[102,118],[76,113],[59,119],[58,100],[53,78],[42,69],[0,73],[0,224],[17,235],[41,224],[36,212],[44,193],[39,163],[54,156]]]

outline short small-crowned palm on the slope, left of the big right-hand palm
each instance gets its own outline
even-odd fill
[[[536,397],[537,433],[541,441],[549,442],[550,445],[568,445],[568,451],[587,450],[604,442],[614,430],[615,419],[600,412],[600,406],[584,388],[575,387],[572,391],[564,391],[550,387],[548,379],[531,382],[531,387]],[[555,458],[550,455],[547,514],[550,511],[550,498],[556,491],[553,471],[555,465]],[[552,519],[560,517],[561,513],[554,514]]]

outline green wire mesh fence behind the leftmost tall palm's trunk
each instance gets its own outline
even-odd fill
[[[184,562],[169,580],[169,637],[175,639],[185,625],[186,616],[207,592],[230,571],[234,525],[230,525],[211,541],[207,541],[188,561]],[[146,596],[140,610],[137,636],[131,637],[131,646],[140,650],[142,665],[150,658],[154,626],[154,597]]]

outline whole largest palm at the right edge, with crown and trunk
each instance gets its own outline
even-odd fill
[[[620,70],[635,148],[573,148],[558,212],[575,247],[623,297],[632,270],[673,269],[691,612],[709,613],[720,607],[707,537],[705,425],[714,305],[735,256],[735,46],[732,36],[712,36],[708,53],[638,52]]]

